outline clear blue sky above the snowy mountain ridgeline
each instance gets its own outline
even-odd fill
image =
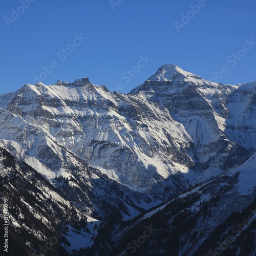
[[[35,76],[45,84],[89,77],[128,93],[165,63],[205,79],[219,71],[222,83],[255,81],[255,13],[253,0],[5,0],[0,93],[33,84]]]

